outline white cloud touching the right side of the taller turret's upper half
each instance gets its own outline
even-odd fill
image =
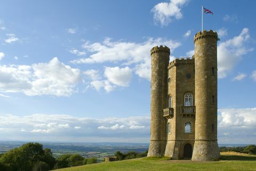
[[[246,47],[249,42],[249,29],[244,28],[238,36],[221,42],[218,45],[218,76],[225,78],[229,71],[233,70],[236,64],[242,60],[242,56],[253,51],[253,48]]]

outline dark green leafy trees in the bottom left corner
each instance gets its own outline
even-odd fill
[[[47,171],[95,162],[97,158],[84,158],[80,154],[62,154],[55,159],[51,149],[43,149],[40,143],[27,143],[0,154],[0,171]]]

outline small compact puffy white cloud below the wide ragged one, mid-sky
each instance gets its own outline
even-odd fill
[[[129,86],[130,80],[132,78],[132,70],[129,67],[106,67],[105,76],[109,82],[118,86],[127,87]]]

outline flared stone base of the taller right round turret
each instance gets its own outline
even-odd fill
[[[220,150],[217,140],[196,140],[193,150],[193,161],[219,160]]]

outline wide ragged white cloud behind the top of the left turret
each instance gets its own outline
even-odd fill
[[[83,44],[83,48],[92,53],[87,58],[81,58],[71,61],[72,63],[103,63],[103,62],[122,62],[122,65],[130,66],[135,64],[135,74],[139,77],[150,80],[151,75],[151,61],[150,49],[157,45],[166,45],[170,47],[170,52],[181,45],[181,43],[174,40],[166,40],[163,38],[148,38],[143,43],[133,42],[111,42],[110,38],[106,38],[102,43]],[[130,67],[129,67],[130,68]]]

